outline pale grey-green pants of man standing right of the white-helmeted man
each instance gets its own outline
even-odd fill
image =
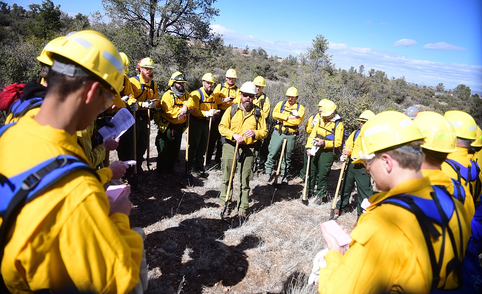
[[[295,149],[296,143],[296,134],[295,135],[285,135],[279,134],[277,130],[273,132],[271,136],[271,141],[269,142],[268,147],[268,158],[266,159],[266,163],[264,166],[266,167],[266,173],[271,174],[273,171],[276,171],[278,166],[276,163],[278,162],[278,154],[280,156],[280,151],[283,146],[283,140],[286,139],[286,147],[284,148],[284,155],[283,160],[281,162],[281,169],[279,171],[279,176],[283,178],[285,175],[288,175],[289,169],[291,166],[291,153]]]

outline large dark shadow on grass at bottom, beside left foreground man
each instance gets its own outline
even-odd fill
[[[227,246],[224,237],[228,224],[219,219],[193,218],[178,226],[154,232],[146,239],[149,270],[158,267],[162,275],[149,280],[148,293],[201,294],[203,287],[216,283],[234,286],[248,270],[246,250],[259,245],[258,237],[244,237],[238,245]]]

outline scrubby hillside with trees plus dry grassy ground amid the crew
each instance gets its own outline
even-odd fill
[[[70,16],[51,0],[28,7],[0,1],[0,86],[37,80],[40,65],[36,57],[48,41],[91,29],[106,35],[129,56],[129,76],[135,74],[138,60],[151,57],[160,92],[177,70],[187,75],[186,88],[192,91],[202,86],[205,72],[212,72],[221,83],[226,69],[233,68],[238,72],[238,86],[263,76],[264,92],[272,104],[284,100],[286,89],[296,86],[298,102],[306,108],[305,121],[317,111],[321,99],[333,100],[347,132],[358,127],[355,118],[365,109],[401,112],[409,105],[438,113],[463,110],[482,125],[482,100],[478,94],[471,95],[466,85],[454,89],[445,89],[442,83],[420,86],[364,65],[339,69],[327,53],[329,40],[323,32],[313,36],[306,53],[297,56],[269,56],[260,47],[235,48],[209,30],[210,21],[219,14],[214,0],[178,2],[160,7],[149,6],[157,3],[154,0],[141,6],[135,0],[103,0],[106,15]],[[293,174],[303,161],[304,136],[297,138]],[[331,198],[339,166],[335,163],[330,174]],[[221,173],[209,171],[206,180],[196,179],[194,188],[181,186],[183,174],[181,162],[173,175],[148,172],[140,176],[138,190],[131,195],[132,225],[143,227],[148,234],[148,293],[315,293],[305,282],[315,253],[325,246],[318,224],[328,220],[331,203],[318,206],[310,201],[303,206],[299,201],[302,185],[271,186],[255,177],[247,222],[236,223],[233,217],[229,223],[219,218]],[[351,230],[356,208],[337,221]]]

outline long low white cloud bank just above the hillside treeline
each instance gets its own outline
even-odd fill
[[[252,35],[243,35],[227,30],[221,25],[211,25],[214,32],[222,34],[224,44],[250,49],[262,47],[270,55],[286,57],[290,54],[296,56],[306,52],[312,46],[312,40],[291,42],[288,40],[259,40]],[[429,60],[409,59],[398,52],[380,52],[371,48],[350,47],[343,43],[330,43],[328,54],[333,55],[332,62],[336,69],[358,69],[365,66],[365,71],[370,69],[382,70],[391,78],[405,76],[407,82],[426,86],[436,86],[444,83],[446,89],[455,88],[459,84],[470,86],[472,90],[482,91],[482,66],[448,64]]]

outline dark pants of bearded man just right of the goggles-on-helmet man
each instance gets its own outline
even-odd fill
[[[209,134],[209,121],[193,119],[189,122],[189,149],[188,167],[202,169],[204,166],[204,153],[206,152],[207,136]]]

